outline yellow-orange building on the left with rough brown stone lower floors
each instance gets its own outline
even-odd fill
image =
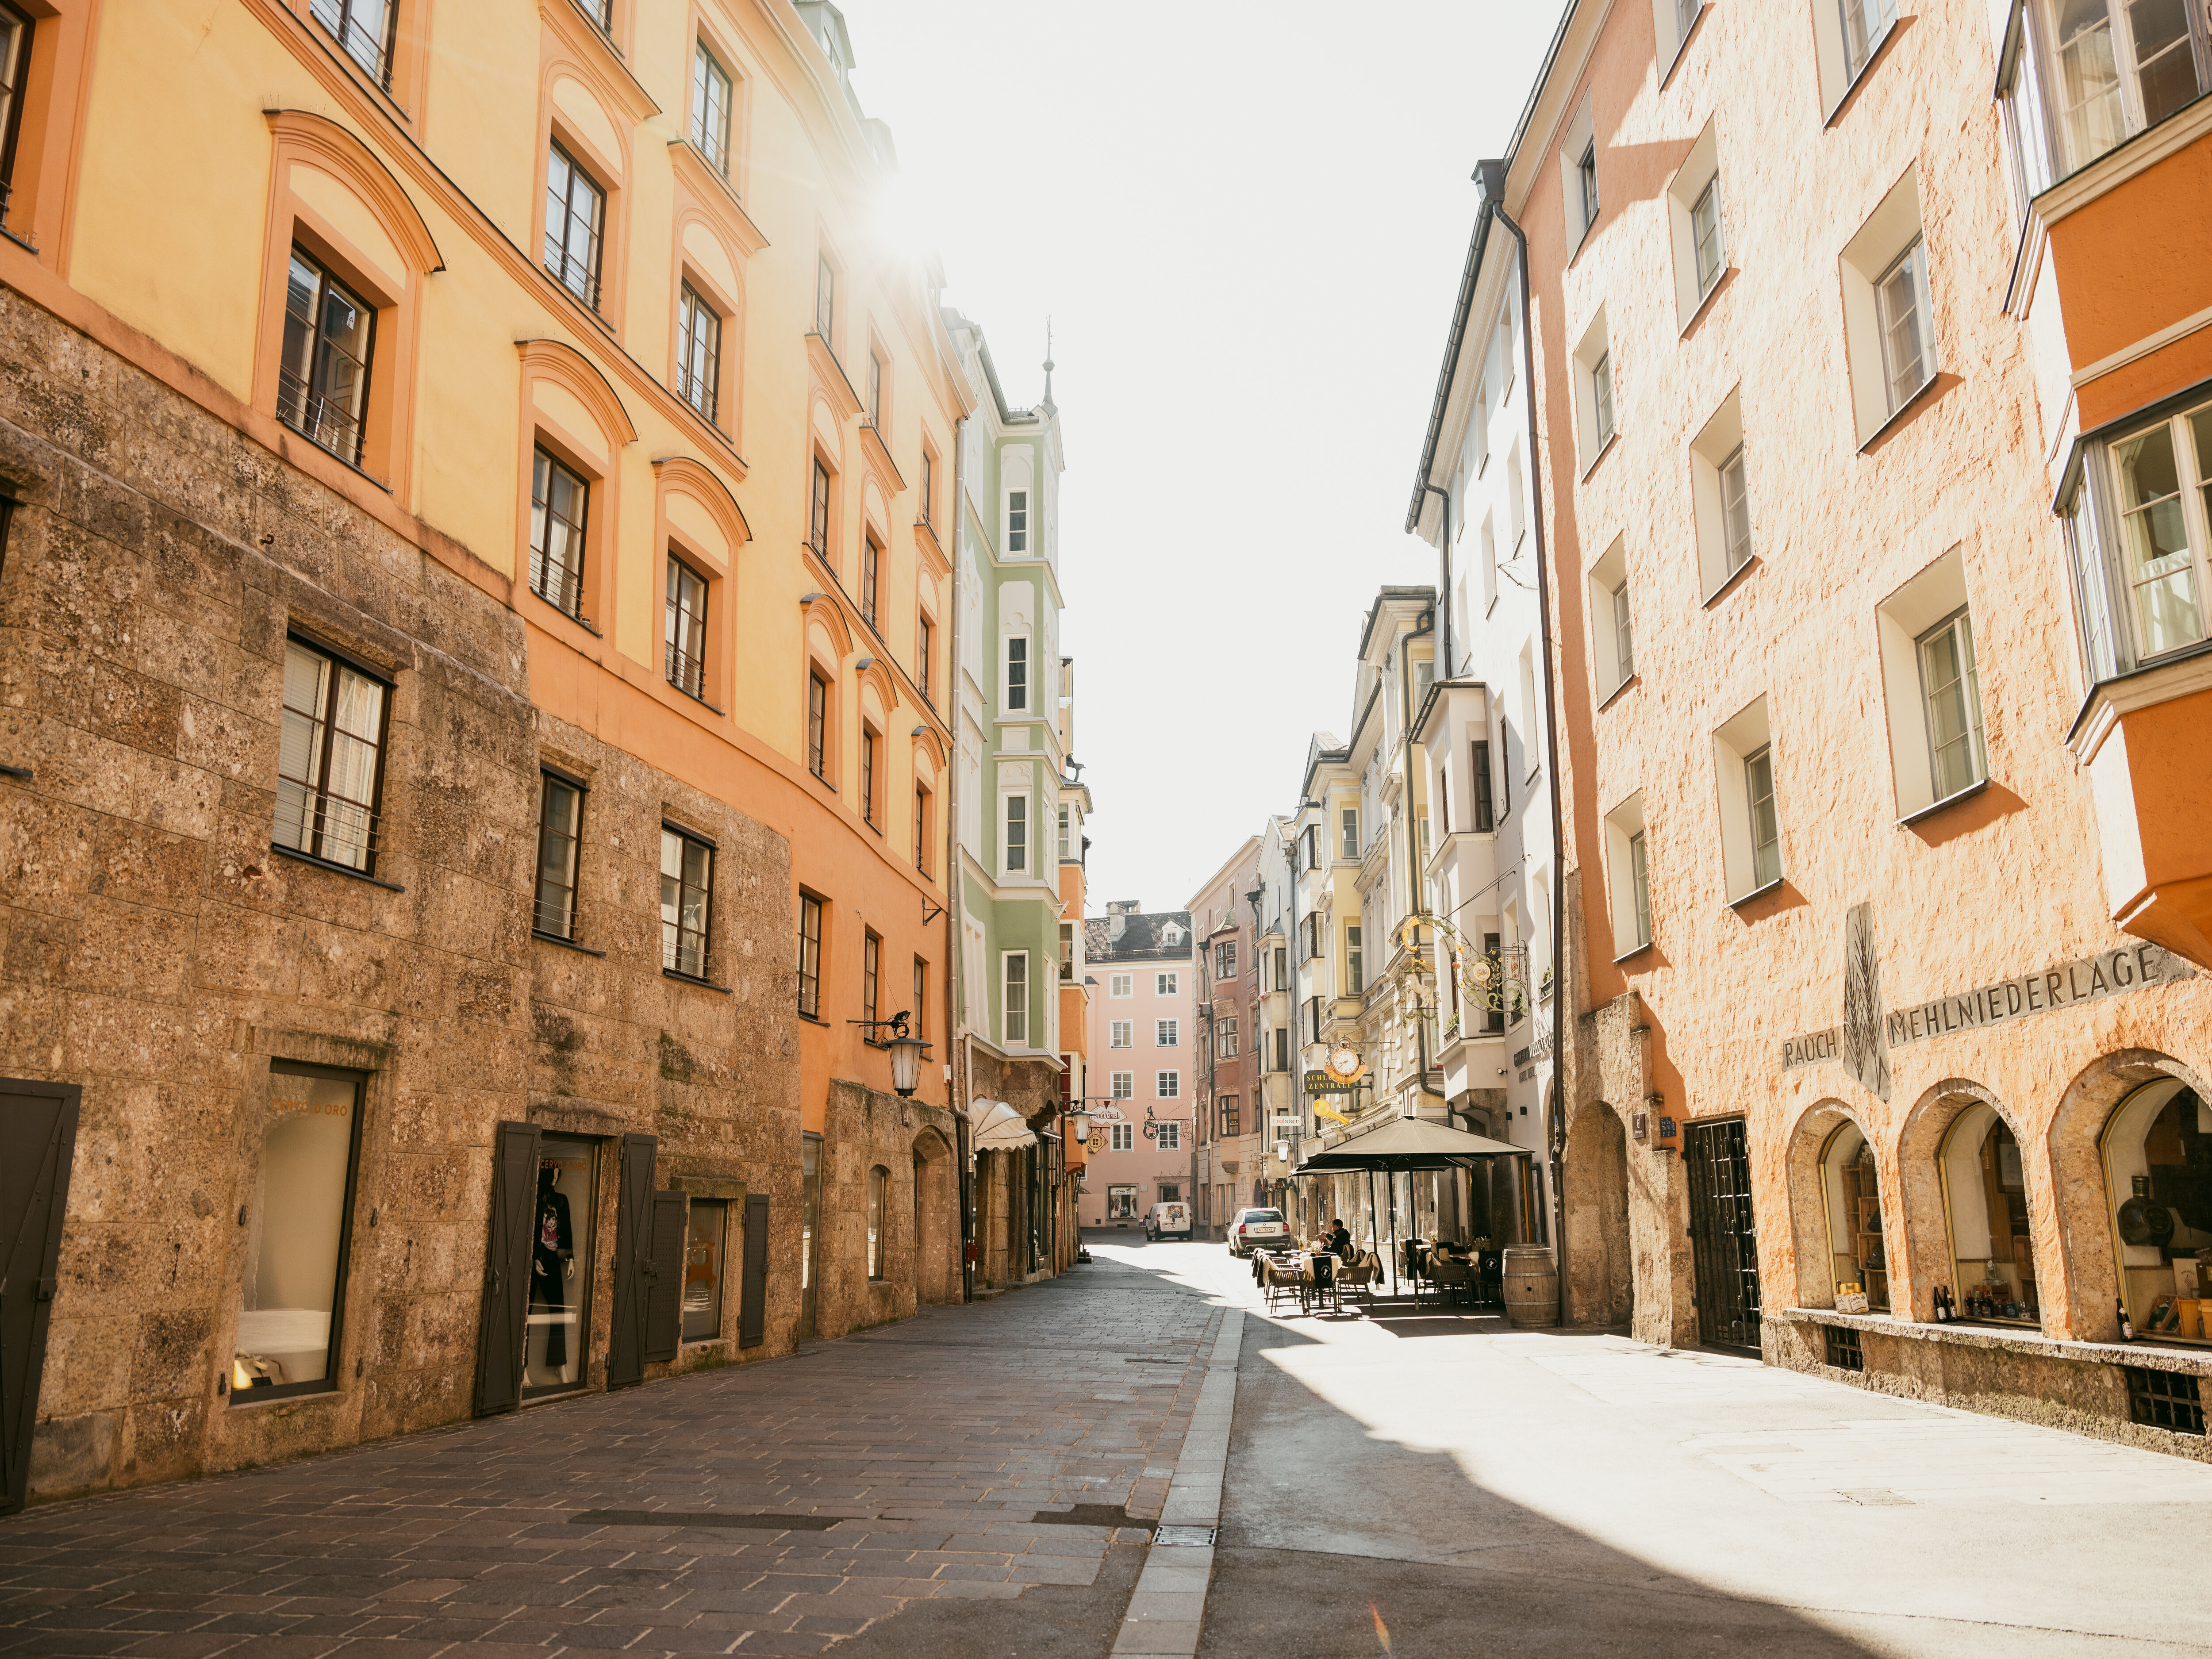
[[[969,394],[836,9],[0,29],[0,1502],[958,1298]]]

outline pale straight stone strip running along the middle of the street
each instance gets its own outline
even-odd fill
[[[1243,1310],[1225,1310],[1206,1360],[1206,1380],[1183,1433],[1159,1526],[1121,1615],[1115,1659],[1192,1659],[1206,1621],[1206,1586],[1214,1571],[1221,1526],[1221,1475],[1230,1458],[1230,1418],[1237,1411],[1237,1356],[1243,1349]]]

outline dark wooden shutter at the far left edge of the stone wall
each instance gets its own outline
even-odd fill
[[[0,1079],[0,1515],[31,1491],[31,1429],[62,1272],[77,1084]]]

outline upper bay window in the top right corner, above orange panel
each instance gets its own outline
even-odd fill
[[[2212,22],[2179,0],[2039,0],[2051,40],[2051,102],[2073,173],[2115,144],[2163,122],[2205,91],[2199,55],[2212,60]]]

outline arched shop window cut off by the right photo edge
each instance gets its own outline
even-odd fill
[[[2166,1077],[2128,1095],[2104,1128],[2104,1190],[2119,1298],[2135,1334],[2212,1340],[2212,1106]]]

